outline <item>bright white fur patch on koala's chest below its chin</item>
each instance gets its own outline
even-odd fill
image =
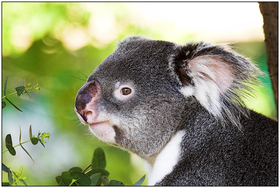
[[[174,135],[162,151],[156,156],[153,166],[146,164],[148,175],[148,185],[153,186],[168,175],[180,159],[180,143],[185,132],[180,131]]]

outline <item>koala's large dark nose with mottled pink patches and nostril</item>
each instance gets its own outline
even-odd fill
[[[75,100],[75,112],[84,124],[90,124],[98,115],[96,102],[100,98],[100,84],[92,80],[79,90]]]

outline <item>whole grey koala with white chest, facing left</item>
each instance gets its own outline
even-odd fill
[[[261,74],[226,44],[128,37],[88,77],[75,112],[143,158],[148,185],[278,186],[278,122],[242,100]]]

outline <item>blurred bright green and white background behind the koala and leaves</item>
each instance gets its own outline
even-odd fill
[[[41,88],[9,99],[2,110],[2,151],[11,134],[13,145],[33,132],[50,133],[46,148],[24,144],[35,163],[20,147],[16,156],[2,154],[2,163],[14,171],[23,165],[27,184],[57,185],[55,176],[71,167],[84,169],[93,151],[101,146],[106,153],[109,179],[132,185],[146,172],[144,161],[121,149],[108,146],[79,125],[74,101],[84,80],[116,48],[116,43],[131,35],[184,44],[190,40],[236,42],[235,50],[252,58],[267,72],[263,18],[256,2],[247,3],[75,3],[2,2],[2,96],[7,76],[7,94],[31,82]],[[74,76],[74,77],[73,77]],[[276,119],[276,107],[269,76],[261,78],[261,94],[247,105]],[[141,144],[141,143],[139,143]],[[7,181],[7,173],[2,173]],[[19,183],[20,184],[20,183]],[[147,178],[143,185],[147,185]]]

